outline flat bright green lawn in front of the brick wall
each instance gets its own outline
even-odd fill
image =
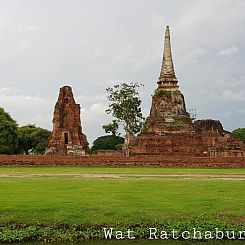
[[[13,177],[33,173],[169,174],[169,177]],[[245,174],[245,169],[1,167],[0,221],[134,224],[245,221],[244,179],[175,178],[171,174]]]

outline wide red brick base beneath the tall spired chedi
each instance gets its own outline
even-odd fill
[[[131,141],[132,155],[245,156],[245,144],[231,133],[142,134]]]

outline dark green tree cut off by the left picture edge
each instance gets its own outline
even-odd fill
[[[15,154],[18,147],[17,123],[0,107],[0,154]]]

